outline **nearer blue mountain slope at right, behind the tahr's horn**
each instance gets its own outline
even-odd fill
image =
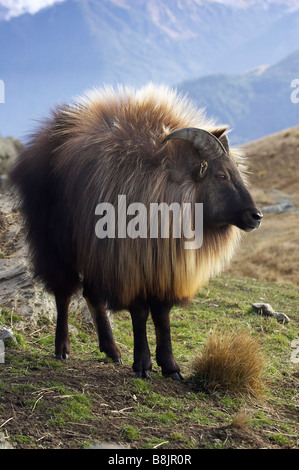
[[[294,79],[297,87],[293,88]],[[177,88],[206,108],[207,115],[228,124],[232,143],[250,142],[298,125],[299,49],[269,67],[240,75],[208,75]]]

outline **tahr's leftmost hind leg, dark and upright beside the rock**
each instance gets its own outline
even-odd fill
[[[68,332],[68,308],[71,296],[68,294],[56,294],[56,335],[55,356],[56,359],[67,359],[70,353],[70,341]]]

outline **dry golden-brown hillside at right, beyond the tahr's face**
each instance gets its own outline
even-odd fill
[[[284,213],[264,211],[262,226],[244,236],[234,275],[299,285],[299,126],[245,146],[253,195],[260,207],[289,201]]]

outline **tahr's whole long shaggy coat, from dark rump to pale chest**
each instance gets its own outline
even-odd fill
[[[20,189],[36,276],[50,291],[72,293],[98,285],[111,308],[148,295],[171,302],[192,299],[229,262],[240,230],[204,232],[203,246],[184,239],[98,239],[95,208],[142,202],[203,202],[180,142],[161,144],[175,129],[217,129],[185,97],[152,84],[134,91],[92,90],[58,107],[31,138],[12,181]],[[245,178],[243,157],[230,150]]]

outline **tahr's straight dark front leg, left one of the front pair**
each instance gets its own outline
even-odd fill
[[[147,305],[136,303],[130,307],[134,335],[133,370],[137,378],[149,378],[152,370],[150,350],[146,336],[146,321],[149,314]]]

